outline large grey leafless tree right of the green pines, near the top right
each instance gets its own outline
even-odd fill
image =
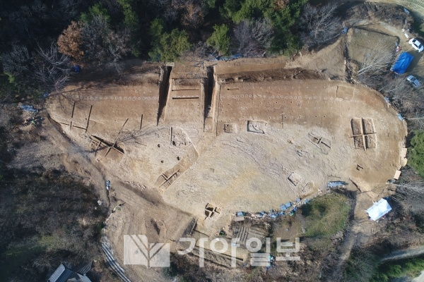
[[[341,19],[335,16],[336,2],[324,6],[306,4],[300,17],[302,40],[305,44],[322,44],[341,31]]]

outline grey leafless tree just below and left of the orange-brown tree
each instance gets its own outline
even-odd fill
[[[70,74],[69,57],[59,53],[57,45],[52,43],[49,48],[38,47],[34,60],[35,78],[49,90],[59,90],[64,87]]]

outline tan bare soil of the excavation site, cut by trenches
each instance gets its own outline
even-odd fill
[[[342,58],[337,46],[329,48]],[[115,81],[80,77],[49,99],[52,120],[79,149],[61,147],[86,160],[80,173],[99,172],[105,197],[104,180],[111,180],[108,201],[122,204],[105,229],[122,266],[125,234],[172,243],[197,221],[195,231],[214,238],[237,210],[278,209],[335,179],[352,179],[377,200],[372,190],[400,168],[405,124],[379,93],[329,81],[322,69],[259,64],[252,72],[237,65],[216,66],[212,93],[204,71],[176,66],[159,120],[160,66],[148,63]],[[329,75],[343,77],[343,67]],[[374,147],[355,147],[353,118],[365,124],[361,140],[376,136]],[[216,207],[213,216],[205,213],[208,205]],[[135,281],[161,279],[157,269],[124,267]]]

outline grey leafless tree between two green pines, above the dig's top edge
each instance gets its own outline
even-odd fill
[[[273,28],[269,20],[242,20],[234,28],[234,44],[243,56],[263,54],[273,39]]]

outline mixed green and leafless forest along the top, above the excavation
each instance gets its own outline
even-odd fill
[[[102,64],[120,71],[122,60],[131,58],[166,62],[190,55],[293,54],[302,46],[301,34],[324,36],[310,23],[321,24],[334,12],[332,8],[324,16],[312,13],[302,20],[306,3],[2,0],[0,99],[42,97],[57,91],[69,80],[74,65]],[[334,29],[336,25],[331,24]],[[326,26],[327,35],[331,35],[331,28]]]

